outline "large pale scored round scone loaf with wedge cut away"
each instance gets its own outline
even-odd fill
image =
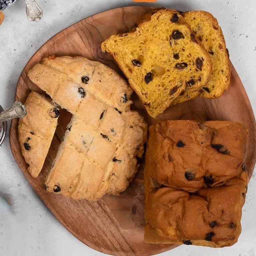
[[[28,76],[74,114],[46,180],[47,191],[97,200],[125,190],[147,138],[147,124],[130,110],[128,84],[84,57],[45,58]]]

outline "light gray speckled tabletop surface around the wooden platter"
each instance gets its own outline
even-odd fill
[[[131,0],[37,0],[44,11],[38,23],[27,20],[22,0],[11,5],[0,26],[0,104],[10,107],[18,77],[33,53],[51,36],[73,23],[115,7],[134,5]],[[145,4],[146,5],[146,4]],[[149,5],[149,4],[147,4]],[[230,59],[248,93],[256,113],[256,20],[255,0],[158,0],[156,6],[178,10],[210,11],[222,27]],[[8,138],[0,147],[0,255],[54,256],[104,255],[72,236],[44,206],[15,161]],[[229,248],[212,249],[179,246],[161,255],[235,255],[256,254],[256,177],[248,186],[243,207],[242,234]]]

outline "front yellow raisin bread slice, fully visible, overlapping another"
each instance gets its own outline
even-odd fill
[[[162,113],[185,87],[205,86],[211,58],[175,10],[147,14],[133,29],[102,43],[139,95],[148,113]]]

